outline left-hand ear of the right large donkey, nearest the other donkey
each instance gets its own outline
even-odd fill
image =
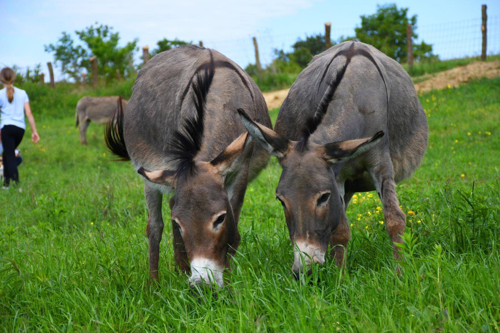
[[[286,155],[290,142],[286,137],[253,121],[242,108],[238,108],[238,113],[243,125],[262,148],[267,150],[269,154],[279,158]]]

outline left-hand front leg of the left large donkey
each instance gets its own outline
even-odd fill
[[[144,183],[144,196],[147,202],[146,235],[149,240],[149,275],[158,280],[159,242],[163,232],[163,218],[161,217],[160,191]]]

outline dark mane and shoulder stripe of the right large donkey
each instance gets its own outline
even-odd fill
[[[328,72],[328,69],[330,68],[331,63],[333,60],[339,56],[339,55],[344,55],[346,57],[345,64],[337,70],[337,73],[335,77],[330,81],[328,86],[326,87],[326,91],[324,92],[323,96],[321,97],[321,100],[319,101],[316,111],[314,112],[313,115],[310,115],[306,118],[305,124],[300,130],[300,136],[299,136],[299,141],[297,144],[297,147],[299,150],[303,150],[307,147],[307,141],[310,137],[310,135],[317,129],[321,121],[323,121],[324,115],[326,114],[326,111],[328,110],[328,105],[330,102],[335,99],[335,90],[338,87],[338,84],[343,78],[343,75],[345,74],[345,69],[347,68],[347,65],[349,64],[350,60],[354,55],[361,55],[370,60],[378,70],[378,73],[380,74],[380,77],[382,78],[383,84],[385,85],[385,93],[387,96],[387,121],[388,121],[388,114],[389,114],[389,96],[387,92],[387,84],[385,83],[385,79],[383,78],[382,71],[380,70],[380,67],[378,67],[377,63],[371,56],[369,52],[367,52],[364,49],[354,49],[354,43],[355,41],[353,40],[347,49],[342,49],[338,51],[328,62],[328,65],[323,71],[323,74],[321,75],[321,79],[318,84],[318,90],[319,86],[321,85],[321,82],[323,81],[324,77],[326,76],[326,73]],[[318,91],[319,92],[319,91]]]

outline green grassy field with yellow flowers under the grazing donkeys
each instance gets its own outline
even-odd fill
[[[160,282],[148,283],[142,181],[110,161],[102,126],[91,124],[81,146],[74,109],[52,110],[40,142],[21,143],[22,192],[0,191],[0,330],[500,330],[500,78],[420,101],[429,147],[397,187],[407,212],[400,276],[368,192],[347,210],[347,273],[327,259],[296,281],[272,159],[248,187],[231,282],[216,297],[194,295],[175,271],[166,200]]]

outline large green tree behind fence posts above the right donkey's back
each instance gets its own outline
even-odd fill
[[[416,15],[407,16],[408,8],[397,8],[396,4],[377,5],[371,15],[361,15],[361,26],[354,29],[359,41],[373,45],[396,61],[404,62],[406,54],[406,24],[413,30],[413,39],[417,39]],[[349,39],[349,38],[345,38]],[[416,60],[433,57],[432,45],[424,41],[413,44]]]

